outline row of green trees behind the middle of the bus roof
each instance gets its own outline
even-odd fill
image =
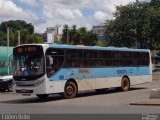
[[[88,31],[85,27],[77,29],[76,25],[73,25],[71,28],[68,25],[64,25],[61,41],[63,44],[90,46],[96,45],[97,35],[93,31]]]

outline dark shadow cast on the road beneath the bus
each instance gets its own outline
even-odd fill
[[[135,91],[135,90],[140,90],[140,89],[146,89],[146,88],[142,88],[142,87],[138,87],[138,88],[130,88],[130,91]],[[128,92],[130,92],[128,91]],[[117,93],[122,93],[122,91],[117,90],[115,88],[111,88],[111,89],[103,89],[101,91],[85,91],[85,92],[81,92],[77,95],[76,98],[74,99],[78,99],[81,97],[90,97],[90,96],[97,96],[97,95],[105,95],[105,94],[117,94]],[[50,95],[48,98],[46,99],[39,99],[38,97],[29,97],[29,98],[21,98],[21,99],[15,99],[15,100],[6,100],[6,101],[0,101],[0,103],[5,103],[5,104],[30,104],[30,103],[45,103],[45,102],[53,102],[53,101],[59,101],[59,100],[66,100],[64,99],[61,95],[58,94],[54,94],[54,95]]]

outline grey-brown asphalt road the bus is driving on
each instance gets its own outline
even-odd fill
[[[160,80],[131,87],[130,91],[114,89],[103,93],[87,91],[77,98],[63,99],[51,95],[47,100],[35,96],[0,93],[0,113],[24,114],[137,114],[160,113],[160,106],[130,105],[131,102],[149,99],[149,89],[160,87]]]

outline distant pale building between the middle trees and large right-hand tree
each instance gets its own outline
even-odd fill
[[[105,28],[104,23],[92,26],[92,31],[97,34],[98,40],[106,40]]]

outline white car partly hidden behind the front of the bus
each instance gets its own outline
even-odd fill
[[[13,82],[12,82],[12,75],[8,76],[0,76],[0,91],[5,92],[5,91],[13,91]]]

